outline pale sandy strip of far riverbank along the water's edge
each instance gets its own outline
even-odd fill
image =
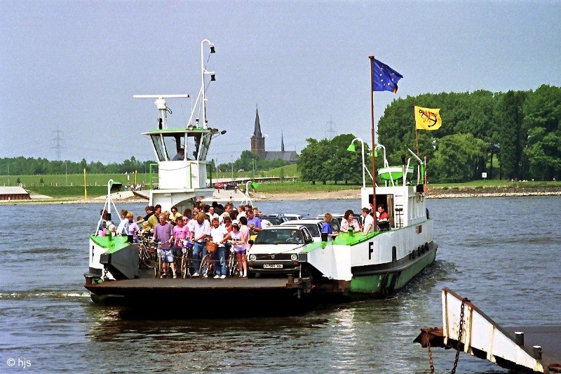
[[[302,200],[344,200],[344,199],[360,199],[359,189],[342,189],[338,191],[317,191],[317,192],[283,192],[283,193],[255,193],[251,194],[254,201],[302,201]],[[561,196],[560,187],[553,188],[527,188],[527,187],[452,187],[431,189],[428,187],[427,199],[452,199],[452,198],[469,198],[469,197],[511,197],[511,196]],[[57,198],[57,199],[31,200],[11,200],[0,201],[2,205],[18,205],[18,204],[83,204],[96,203],[102,205],[104,199],[99,197],[94,199],[80,199],[79,197]],[[130,197],[127,199],[114,199],[116,203],[147,203],[145,199],[138,197]]]

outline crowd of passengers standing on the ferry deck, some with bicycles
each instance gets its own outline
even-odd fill
[[[194,203],[192,209],[187,208],[180,213],[177,206],[172,206],[170,211],[162,211],[161,205],[147,206],[144,208],[145,215],[134,218],[133,213],[122,209],[121,220],[116,227],[111,222],[107,211],[101,212],[100,225],[97,235],[99,236],[132,236],[133,242],[137,243],[142,236],[151,237],[152,243],[159,243],[162,255],[162,274],[165,278],[168,268],[177,278],[174,258],[181,257],[187,246],[192,246],[193,276],[199,276],[198,269],[201,267],[201,259],[208,253],[206,246],[208,241],[217,245],[213,253],[215,261],[215,279],[225,279],[227,276],[227,260],[229,255],[235,255],[238,264],[239,276],[248,276],[248,265],[245,258],[250,249],[250,236],[259,233],[262,227],[269,222],[262,220],[262,212],[250,204],[234,207],[228,202],[222,206],[216,202],[207,205],[201,201]],[[377,221],[388,220],[388,214],[384,206],[377,207]],[[374,218],[369,208],[363,208],[360,222],[354,218],[351,209],[344,213],[340,225],[341,232],[363,232],[369,234],[374,231]],[[337,234],[333,232],[331,222],[333,216],[326,213],[321,227],[322,240],[328,235]],[[325,239],[327,241],[327,239]],[[208,276],[205,274],[204,276]]]

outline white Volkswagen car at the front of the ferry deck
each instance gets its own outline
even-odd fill
[[[248,251],[248,277],[297,274],[298,253],[311,243],[313,238],[304,225],[263,227]]]

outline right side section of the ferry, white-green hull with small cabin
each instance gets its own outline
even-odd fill
[[[370,234],[341,232],[327,245],[299,253],[299,262],[310,269],[318,291],[386,298],[434,262],[438,245],[433,240],[433,218],[419,183],[423,164],[413,156],[407,164],[391,167],[384,149],[386,166],[378,175],[386,182],[375,188],[375,200],[374,187],[365,187],[363,182],[361,206],[370,207],[375,201],[387,207],[388,222],[378,222]],[[409,179],[415,159],[419,161],[417,184]]]

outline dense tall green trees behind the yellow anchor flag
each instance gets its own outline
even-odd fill
[[[552,180],[561,177],[561,88],[535,91],[425,93],[394,100],[379,120],[378,139],[399,164],[404,146],[415,150],[413,106],[440,108],[442,127],[419,130],[433,182],[481,178]],[[499,175],[492,173],[499,163]]]

